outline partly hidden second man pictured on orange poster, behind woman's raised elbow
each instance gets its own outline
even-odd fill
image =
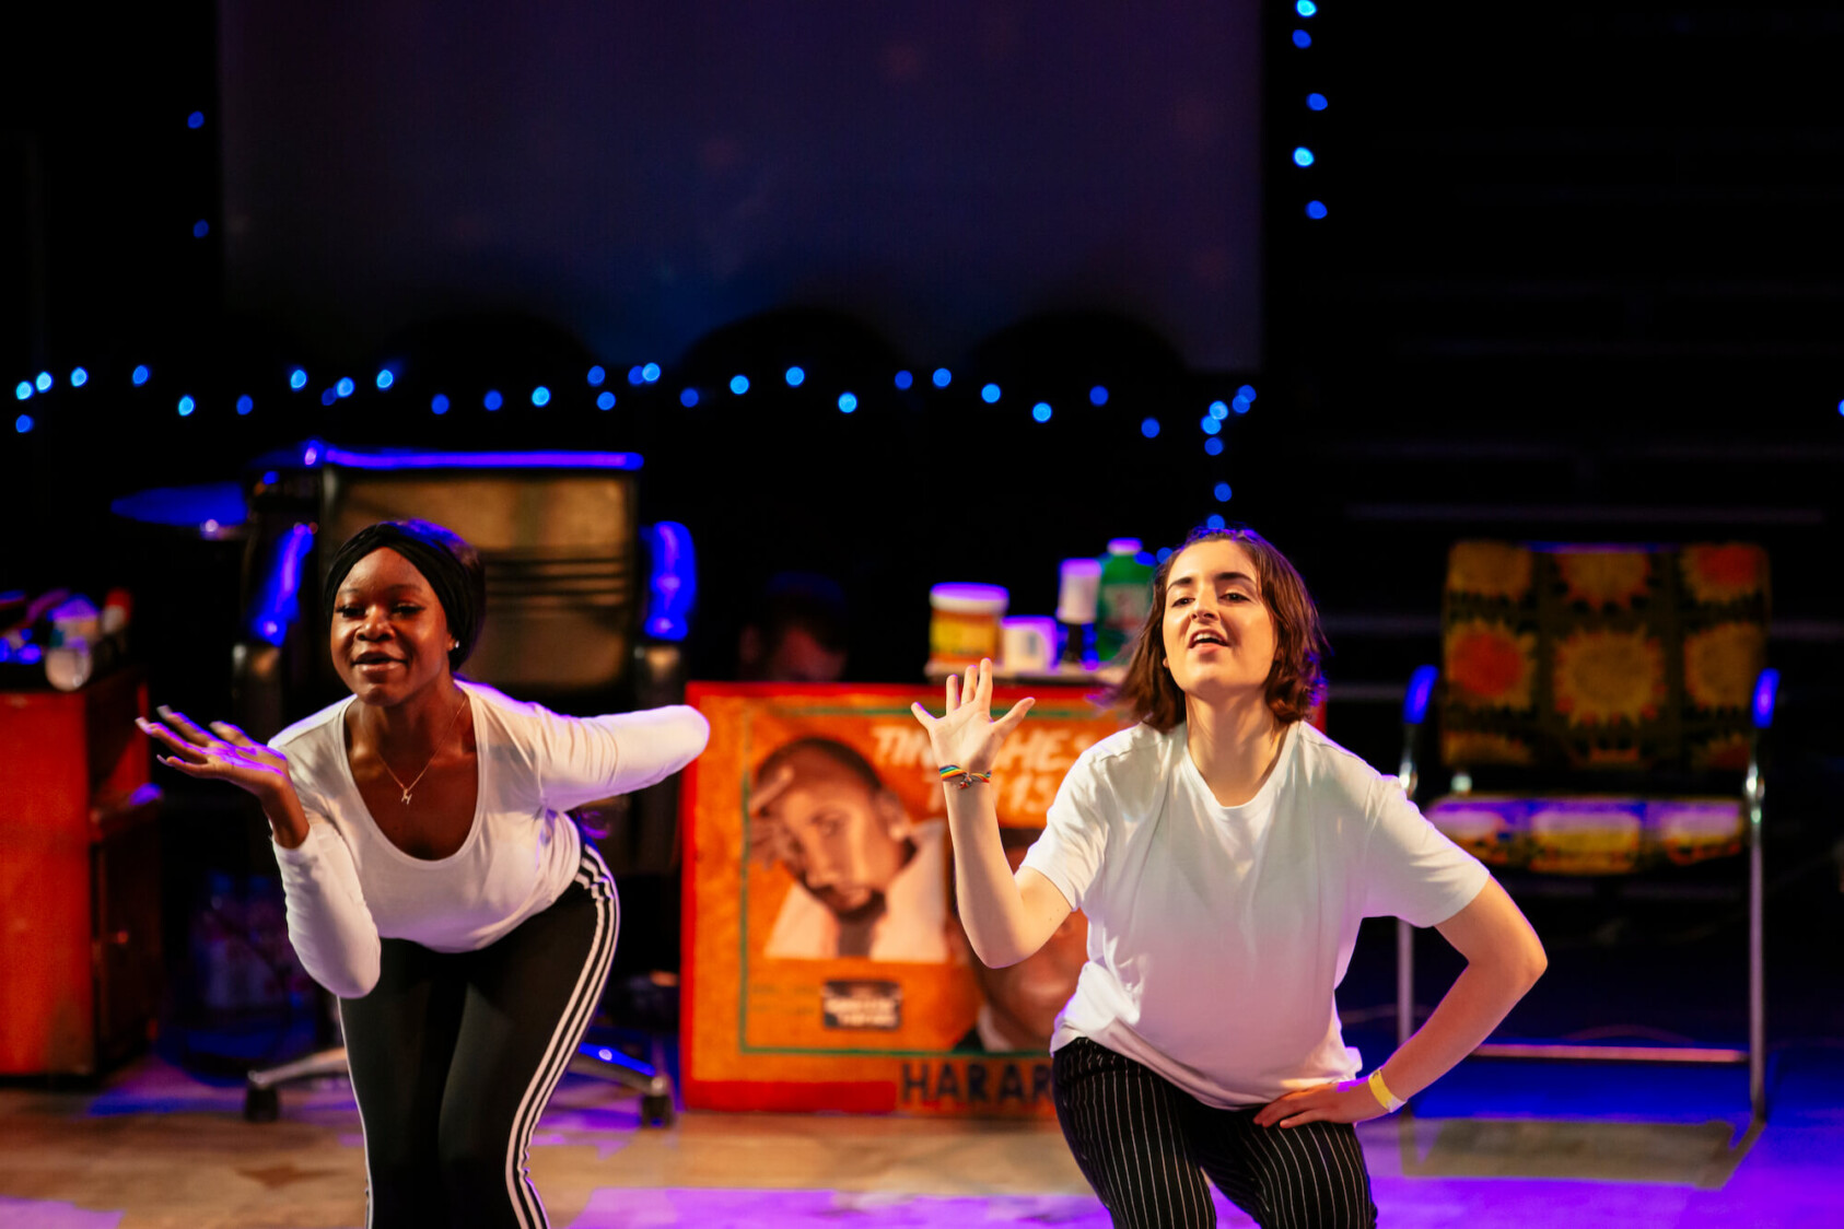
[[[1001,827],[999,842],[1012,873],[1042,827]],[[952,901],[952,892],[950,892]],[[1088,960],[1088,918],[1071,910],[1038,951],[1003,969],[988,969],[974,954],[961,929],[959,910],[950,925],[955,945],[979,982],[979,1017],[953,1047],[957,1054],[1049,1054],[1057,1015],[1075,993],[1075,980]]]

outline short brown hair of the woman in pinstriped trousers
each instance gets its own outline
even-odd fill
[[[1318,626],[1318,608],[1306,591],[1306,580],[1274,549],[1274,544],[1254,529],[1197,527],[1184,545],[1165,556],[1152,573],[1152,608],[1127,660],[1127,678],[1108,695],[1117,708],[1165,733],[1184,720],[1184,693],[1165,669],[1165,579],[1178,556],[1199,542],[1234,542],[1248,551],[1261,586],[1258,597],[1274,619],[1274,667],[1267,676],[1267,704],[1283,726],[1304,719],[1318,704],[1326,689],[1324,660],[1330,652],[1326,634]]]

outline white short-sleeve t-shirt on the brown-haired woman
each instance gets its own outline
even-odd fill
[[[1184,724],[1103,739],[1023,864],[1088,914],[1051,1048],[1088,1037],[1221,1107],[1353,1078],[1333,989],[1357,923],[1446,921],[1488,877],[1394,778],[1306,722],[1239,807],[1212,796]]]

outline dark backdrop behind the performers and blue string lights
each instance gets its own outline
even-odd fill
[[[1300,566],[1331,735],[1394,768],[1455,538],[1759,540],[1785,673],[1770,951],[1833,953],[1774,984],[1835,986],[1844,13],[682,6],[614,29],[609,7],[13,17],[0,396],[59,385],[7,402],[37,426],[0,431],[0,588],[135,584],[162,695],[210,700],[238,549],[129,527],[112,496],[310,435],[631,448],[644,516],[701,547],[695,673],[730,669],[771,571],[810,568],[845,582],[852,676],[907,680],[931,582],[1042,612],[1058,558],[1215,512]],[[649,359],[662,380],[629,385]],[[341,374],[360,392],[323,407]],[[1206,405],[1245,383],[1206,455]],[[1833,1001],[1776,1019],[1844,1036]]]

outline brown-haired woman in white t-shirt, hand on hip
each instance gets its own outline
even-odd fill
[[[1473,1050],[1543,947],[1394,778],[1313,730],[1318,612],[1248,529],[1197,531],[1160,566],[1116,693],[1138,724],[1088,748],[1016,873],[988,787],[1020,700],[992,667],[920,704],[948,790],[974,951],[1014,964],[1073,908],[1088,962],[1051,1041],[1057,1118],[1116,1225],[1213,1225],[1204,1179],[1259,1225],[1370,1225],[1352,1124]],[[1333,989],[1370,916],[1438,927],[1468,966],[1366,1080]]]

